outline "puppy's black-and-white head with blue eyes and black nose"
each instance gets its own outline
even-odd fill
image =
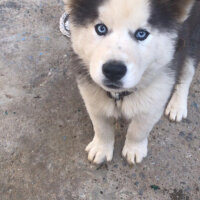
[[[105,90],[131,90],[173,59],[194,0],[67,0],[72,47]]]

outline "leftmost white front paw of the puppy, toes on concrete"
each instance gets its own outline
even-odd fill
[[[89,161],[95,164],[101,164],[104,161],[109,162],[112,160],[113,149],[114,141],[106,144],[94,138],[85,150],[88,152]]]

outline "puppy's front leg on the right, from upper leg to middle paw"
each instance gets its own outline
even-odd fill
[[[126,135],[125,145],[122,155],[130,165],[140,163],[147,156],[148,135],[154,124],[160,119],[160,114],[135,117]]]

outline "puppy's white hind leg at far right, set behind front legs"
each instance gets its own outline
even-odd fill
[[[187,98],[194,72],[194,61],[192,58],[188,58],[183,67],[179,83],[176,84],[175,91],[165,111],[165,114],[172,121],[179,122],[187,117]]]

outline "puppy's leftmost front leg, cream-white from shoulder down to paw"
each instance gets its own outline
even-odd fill
[[[114,149],[114,129],[111,121],[99,108],[103,99],[100,96],[97,100],[94,97],[95,91],[92,91],[93,88],[88,87],[88,85],[79,85],[79,89],[92,120],[95,133],[93,140],[85,149],[88,152],[88,159],[95,164],[111,161]]]

